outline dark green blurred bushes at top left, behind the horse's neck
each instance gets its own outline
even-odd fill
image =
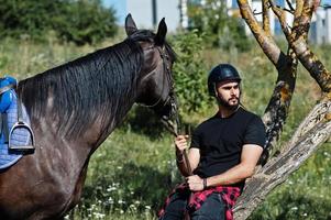
[[[100,0],[0,1],[0,36],[45,41],[51,31],[76,44],[97,43],[117,33],[114,11]]]

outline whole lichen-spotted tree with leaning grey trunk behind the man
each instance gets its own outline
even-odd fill
[[[263,22],[260,24],[246,0],[238,0],[242,18],[250,26],[261,48],[277,69],[278,76],[265,110],[263,120],[267,129],[266,151],[262,157],[262,167],[251,178],[235,206],[235,219],[246,219],[265,196],[287,179],[316,150],[324,143],[331,133],[331,76],[322,62],[308,45],[308,32],[311,18],[319,0],[286,1],[288,8],[282,8],[273,0],[263,0]],[[287,42],[282,51],[271,34],[269,13],[279,20]],[[291,24],[286,22],[286,13],[294,15]],[[293,138],[274,155],[282,128],[289,113],[295,90],[297,66],[300,62],[321,89],[321,97],[310,113],[302,120]],[[267,162],[268,155],[271,158]]]

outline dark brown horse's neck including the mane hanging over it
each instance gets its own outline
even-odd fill
[[[35,121],[47,119],[55,124],[52,125],[55,134],[59,131],[58,135],[66,140],[84,140],[92,147],[102,143],[123,120],[136,98],[140,54],[132,52],[126,44],[119,44],[115,50],[109,54],[101,51],[98,56],[88,55],[69,66],[64,65],[24,80],[19,92],[23,95],[22,100]],[[117,55],[114,62],[90,61],[112,55]],[[87,65],[84,68],[80,66],[82,63]],[[95,65],[96,63],[99,65]],[[123,63],[125,68],[121,68]],[[100,70],[100,65],[103,67],[103,75],[96,74]],[[84,75],[89,73],[92,73],[90,77]],[[93,79],[92,82],[90,78]],[[89,88],[93,90],[87,91]]]

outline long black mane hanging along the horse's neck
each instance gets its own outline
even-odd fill
[[[18,92],[32,118],[43,117],[52,98],[58,131],[80,135],[98,116],[109,123],[123,117],[119,102],[130,105],[135,98],[142,53],[136,42],[126,40],[22,80]]]

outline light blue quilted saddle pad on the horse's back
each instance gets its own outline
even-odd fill
[[[14,123],[18,122],[16,95],[5,112],[8,114],[8,128],[10,131]],[[22,117],[23,121],[30,124],[30,119],[24,105],[22,105]],[[27,145],[31,142],[31,134],[26,129],[18,128],[12,132],[10,142],[15,146]],[[4,169],[13,165],[23,156],[23,154],[24,152],[9,150],[8,143],[4,143],[4,135],[2,132],[0,136],[0,169]]]

